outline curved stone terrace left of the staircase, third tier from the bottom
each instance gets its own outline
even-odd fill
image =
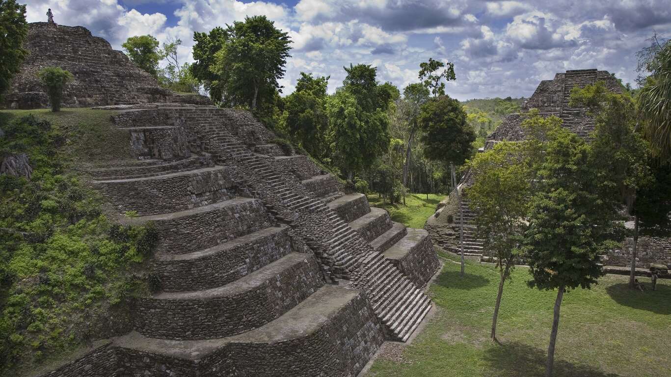
[[[267,227],[188,254],[161,254],[152,272],[165,292],[215,288],[291,253],[289,227]]]

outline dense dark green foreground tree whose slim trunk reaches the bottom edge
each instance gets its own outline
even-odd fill
[[[599,182],[590,146],[562,128],[556,117],[546,123],[544,138],[537,140],[544,153],[537,160],[537,192],[529,203],[525,256],[529,286],[557,290],[548,345],[546,377],[552,376],[554,348],[564,292],[590,288],[604,272],[599,254],[613,248],[622,237],[616,221],[617,202]]]

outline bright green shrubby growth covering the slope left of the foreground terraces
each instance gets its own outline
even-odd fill
[[[0,117],[0,154],[25,153],[33,174],[0,175],[0,375],[127,331],[157,238],[151,224],[121,226],[103,213],[66,164],[67,130],[9,118]]]

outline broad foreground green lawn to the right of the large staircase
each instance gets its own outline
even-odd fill
[[[389,343],[366,377],[543,376],[556,291],[528,288],[527,268],[505,285],[497,338],[488,339],[499,273],[469,262],[446,262],[429,288],[437,312],[409,345]],[[671,282],[658,290],[627,288],[607,275],[591,290],[564,295],[555,376],[669,376]],[[650,279],[643,278],[649,285]]]

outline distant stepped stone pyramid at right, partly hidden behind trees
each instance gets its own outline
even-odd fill
[[[558,73],[553,80],[543,80],[535,92],[521,107],[521,113],[508,115],[499,127],[487,136],[485,149],[493,148],[497,142],[519,142],[526,138],[521,127],[523,113],[538,109],[543,116],[556,115],[562,119],[562,126],[570,129],[581,138],[588,138],[595,129],[595,119],[587,114],[584,107],[570,107],[570,91],[574,87],[584,88],[586,85],[603,81],[610,91],[622,93],[623,87],[618,80],[605,70],[567,70]],[[472,184],[472,175],[466,172],[460,181],[458,190],[462,199],[457,203],[456,194],[442,201],[425,229],[431,234],[435,244],[452,252],[460,252],[459,223],[460,211],[464,217],[464,254],[477,260],[487,260],[491,253],[482,247],[482,239],[475,232],[476,213],[469,207],[468,186]],[[603,264],[612,267],[611,271],[628,269],[631,260],[632,240],[626,239],[621,250],[611,250],[601,256]],[[637,250],[637,267],[649,268],[650,264],[666,264],[671,268],[671,239],[658,237],[639,237]],[[619,269],[618,267],[622,267]]]

